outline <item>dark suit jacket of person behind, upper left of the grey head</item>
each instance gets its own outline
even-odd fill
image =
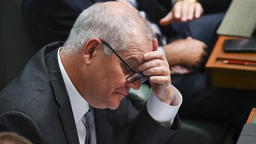
[[[111,0],[23,0],[24,20],[35,48],[66,41],[83,9],[107,1]]]

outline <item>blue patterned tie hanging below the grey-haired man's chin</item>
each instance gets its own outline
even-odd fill
[[[83,116],[83,122],[86,127],[85,144],[94,144],[94,114],[93,107],[89,106],[89,110]]]

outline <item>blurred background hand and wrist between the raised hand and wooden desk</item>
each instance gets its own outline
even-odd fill
[[[203,57],[207,55],[207,45],[204,42],[187,37],[163,46],[167,61],[172,65],[198,67]]]

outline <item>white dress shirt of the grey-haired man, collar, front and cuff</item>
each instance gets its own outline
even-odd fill
[[[61,48],[59,48],[59,50],[60,49]],[[63,77],[67,92],[69,94],[69,100],[70,100],[72,111],[74,114],[74,120],[76,123],[76,130],[78,133],[79,142],[80,144],[84,144],[85,138],[86,138],[86,128],[85,128],[85,124],[83,123],[83,115],[89,110],[89,104],[80,95],[80,93],[76,90],[76,88],[70,81],[69,76],[67,75],[67,72],[65,71],[65,68],[61,63],[59,50],[58,50],[59,68],[61,70],[61,75]],[[150,90],[150,96],[148,98],[148,103],[147,103],[147,110],[150,116],[152,116],[152,118],[156,120],[156,122],[158,122],[159,124],[165,127],[171,127],[171,124],[173,123],[173,119],[182,103],[182,96],[180,92],[173,86],[172,86],[172,89],[173,89],[173,101],[171,105],[167,105],[161,102],[156,97],[152,89]],[[95,129],[94,139],[95,139],[94,144],[96,144],[96,129]]]

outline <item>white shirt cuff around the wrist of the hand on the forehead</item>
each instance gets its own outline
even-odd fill
[[[182,103],[182,95],[172,85],[172,97],[171,105],[167,105],[159,100],[154,94],[152,88],[147,102],[147,110],[149,115],[163,127],[171,127],[174,117],[176,116],[180,105]]]

